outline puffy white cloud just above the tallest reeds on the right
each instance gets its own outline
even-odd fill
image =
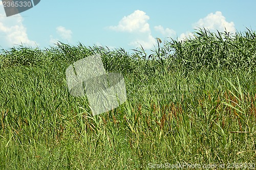
[[[234,28],[233,22],[227,22],[226,18],[222,15],[220,11],[217,11],[215,14],[210,13],[206,17],[199,19],[195,24],[194,28],[206,28],[209,31],[224,32],[225,28],[227,32],[234,33],[236,29]]]

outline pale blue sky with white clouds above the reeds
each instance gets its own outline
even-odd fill
[[[0,49],[23,44],[41,49],[71,45],[154,50],[156,37],[182,39],[197,27],[256,30],[256,1],[50,1],[6,17],[0,1]]]

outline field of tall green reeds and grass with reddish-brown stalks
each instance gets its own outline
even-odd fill
[[[2,50],[0,169],[255,168],[256,33],[158,43],[152,54],[61,42]],[[123,75],[127,101],[92,116],[65,70],[96,53]]]

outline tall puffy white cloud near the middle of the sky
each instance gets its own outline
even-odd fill
[[[110,26],[110,30],[130,33],[133,40],[129,43],[134,47],[140,47],[145,50],[151,49],[156,44],[156,39],[151,35],[150,25],[147,20],[150,19],[144,11],[136,10],[128,16],[124,16],[117,26]]]

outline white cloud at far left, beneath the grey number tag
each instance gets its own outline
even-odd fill
[[[20,14],[6,17],[3,3],[0,2],[0,44],[13,46],[14,44],[36,46],[36,42],[28,38],[27,29],[23,25],[23,17]]]

